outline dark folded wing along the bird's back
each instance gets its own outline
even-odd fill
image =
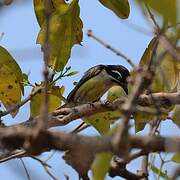
[[[80,81],[76,84],[74,89],[69,93],[67,96],[67,101],[70,102],[73,100],[73,97],[76,93],[76,91],[79,89],[79,87],[84,84],[89,79],[93,78],[94,76],[98,75],[101,70],[103,69],[104,65],[97,65],[92,68],[90,68],[88,71],[84,73],[84,76],[80,79]]]

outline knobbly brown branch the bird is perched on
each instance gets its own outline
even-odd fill
[[[49,120],[47,128],[64,126],[73,120],[88,117],[95,113],[106,112],[106,111],[117,111],[123,110],[123,103],[126,101],[125,97],[116,99],[114,102],[94,102],[90,104],[83,104],[73,108],[62,108],[49,113]],[[150,106],[156,102],[159,106],[171,106],[180,104],[180,92],[176,93],[153,93],[151,95],[142,94],[137,99],[137,103],[141,106]],[[36,117],[29,121],[21,123],[25,126],[35,126],[40,117]]]

